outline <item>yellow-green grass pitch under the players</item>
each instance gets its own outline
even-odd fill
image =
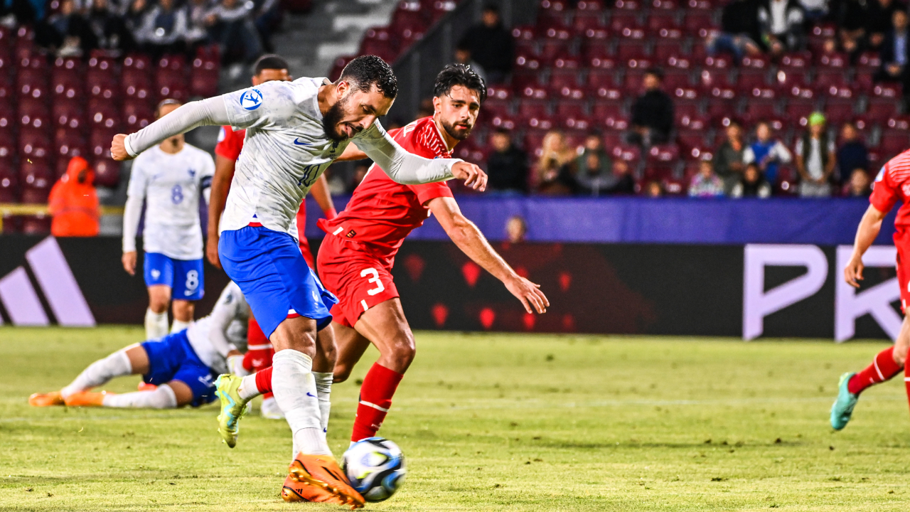
[[[222,445],[214,406],[29,407],[134,327],[0,328],[0,510],[338,510],[278,497],[284,422],[242,420]],[[374,510],[907,510],[901,379],[828,425],[838,375],[882,343],[418,333],[380,434],[409,475]],[[332,394],[347,446],[359,379]],[[109,384],[135,389],[136,377]]]

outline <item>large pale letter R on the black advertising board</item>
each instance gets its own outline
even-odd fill
[[[841,245],[837,247],[837,268],[843,269],[850,261],[853,254],[852,245]],[[897,250],[894,246],[873,246],[863,255],[863,263],[866,268],[869,267],[894,267],[897,258]],[[886,282],[880,282],[864,290],[857,292],[853,286],[844,281],[843,276],[837,277],[834,295],[834,341],[837,343],[844,342],[854,337],[856,332],[856,319],[869,313],[875,318],[885,333],[892,340],[897,339],[897,333],[901,330],[901,317],[895,308],[891,307],[891,302],[895,302],[901,297],[900,285],[897,278],[889,279]]]

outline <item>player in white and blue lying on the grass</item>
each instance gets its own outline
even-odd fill
[[[60,391],[33,394],[36,407],[197,407],[215,400],[215,378],[228,370],[242,372],[243,356],[237,344],[246,344],[249,306],[233,282],[221,292],[212,313],[190,323],[187,329],[157,340],[136,343],[89,366]],[[92,388],[114,377],[142,375],[151,391],[113,394],[93,393]]]

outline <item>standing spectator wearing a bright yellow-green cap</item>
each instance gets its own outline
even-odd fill
[[[834,140],[828,139],[825,118],[821,112],[809,116],[809,129],[796,142],[796,170],[799,171],[799,195],[804,198],[831,196],[831,177],[837,157]]]

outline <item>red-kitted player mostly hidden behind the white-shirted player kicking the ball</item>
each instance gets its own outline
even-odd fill
[[[252,83],[254,86],[269,82],[272,80],[291,81],[293,78],[288,74],[288,63],[285,59],[276,55],[265,55],[258,58],[254,65],[254,74]],[[247,130],[239,129],[234,131],[231,127],[221,127],[218,134],[218,143],[215,147],[215,176],[212,179],[211,200],[208,202],[208,241],[206,243],[206,256],[208,261],[218,268],[221,268],[221,262],[218,261],[218,220],[221,219],[221,213],[225,209],[227,192],[230,190],[231,179],[234,178],[234,167],[243,149],[243,138]],[[332,203],[329,195],[329,186],[326,177],[320,176],[313,184],[309,194],[316,199],[319,208],[322,209],[327,219],[332,219],[338,213]],[[304,236],[303,230],[307,225],[307,203],[300,205],[297,213],[298,241],[300,252],[307,260],[310,268],[316,269],[316,262],[313,260],[313,251],[309,249],[309,243]],[[329,335],[323,334],[323,335]],[[249,317],[248,326],[248,349],[245,354],[243,365],[248,372],[258,372],[268,368],[272,364],[272,355],[275,350],[272,343],[268,341],[266,335],[259,329],[256,319]],[[331,369],[328,370],[329,372]],[[275,403],[272,394],[266,394],[262,403],[261,413],[264,417],[270,419],[281,419],[284,414]]]

